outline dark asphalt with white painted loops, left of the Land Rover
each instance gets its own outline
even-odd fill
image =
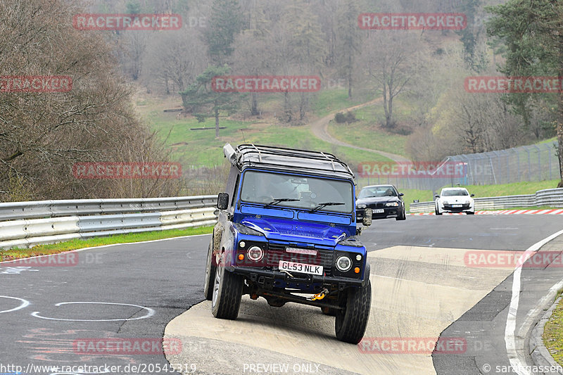
[[[24,374],[174,374],[153,368],[167,364],[161,346],[153,345],[172,318],[203,300],[208,237],[84,250],[70,265],[0,263],[0,374],[15,372],[8,365],[23,367]],[[24,303],[29,305],[6,312]],[[127,338],[132,348],[145,347],[143,354],[129,355],[95,338],[103,343]],[[30,364],[60,368],[27,369]],[[125,371],[136,364],[146,371]],[[121,369],[106,371],[105,365]],[[83,371],[67,371],[72,367]]]

